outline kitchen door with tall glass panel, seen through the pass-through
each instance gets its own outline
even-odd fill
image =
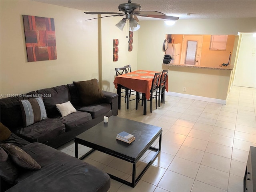
[[[180,63],[200,65],[202,43],[202,35],[184,35]]]

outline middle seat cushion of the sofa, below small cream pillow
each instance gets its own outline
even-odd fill
[[[65,124],[67,132],[81,125],[86,124],[88,121],[92,120],[92,116],[90,113],[77,111],[72,114],[69,114],[66,117],[53,118],[53,120]]]

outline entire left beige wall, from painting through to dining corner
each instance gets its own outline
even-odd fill
[[[126,26],[122,18],[104,18],[99,27],[102,51],[98,60],[98,20],[82,10],[34,1],[0,1],[1,8],[1,94],[23,94],[72,81],[102,79],[102,89],[113,92],[114,68],[131,64],[137,69],[138,32],[128,52]],[[54,18],[57,60],[27,62],[22,14]],[[113,62],[113,39],[119,39],[119,60]],[[102,74],[99,75],[99,71]]]

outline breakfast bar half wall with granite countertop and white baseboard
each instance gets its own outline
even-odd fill
[[[170,95],[226,104],[233,65],[162,64],[162,69],[169,70]]]

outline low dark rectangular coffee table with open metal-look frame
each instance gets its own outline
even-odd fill
[[[116,139],[116,135],[122,131],[126,131],[135,136],[135,141],[131,144],[122,142]],[[159,137],[158,148],[151,145]],[[108,123],[100,122],[89,130],[76,136],[75,138],[75,155],[78,158],[78,144],[92,148],[88,153],[84,154],[80,159],[85,158],[94,150],[104,152],[111,156],[131,162],[132,166],[132,182],[128,182],[109,174],[110,178],[122,182],[128,186],[135,187],[140,178],[144,175],[149,166],[154,162],[161,150],[162,128],[136,122],[133,120],[111,116],[108,118]],[[156,153],[148,162],[147,166],[142,170],[140,175],[136,175],[136,163],[140,160],[147,150],[155,151]]]

